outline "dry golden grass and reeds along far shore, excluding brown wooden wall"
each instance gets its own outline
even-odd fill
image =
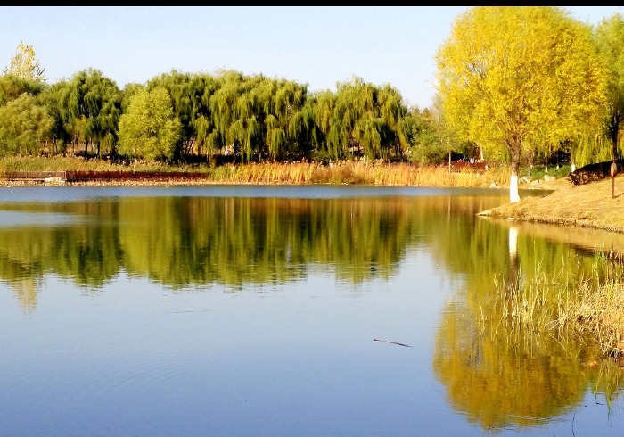
[[[131,164],[75,157],[27,157],[0,160],[0,178],[7,171],[172,171],[201,172],[205,178],[193,183],[218,184],[359,184],[386,186],[508,186],[508,166],[484,171],[454,169],[447,165],[416,166],[410,163],[342,161],[330,165],[314,162],[266,162],[170,165],[134,162]],[[182,181],[184,182],[184,181]],[[179,183],[179,181],[178,181]]]

